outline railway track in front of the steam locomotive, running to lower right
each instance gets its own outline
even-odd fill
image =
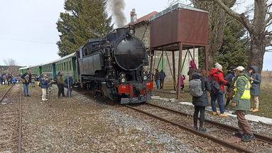
[[[230,149],[234,149],[236,152],[263,152],[263,150],[267,149],[266,147],[271,147],[271,137],[266,137],[256,133],[254,133],[256,139],[251,142],[239,142],[239,144],[229,143],[225,141],[224,138],[233,137],[233,132],[238,132],[238,129],[236,127],[223,125],[212,120],[205,120],[205,127],[207,127],[206,133],[198,132],[192,129],[192,115],[179,112],[177,110],[172,110],[167,107],[153,105],[148,102],[146,102],[144,105],[126,105],[126,107],[154,117],[163,122],[168,122],[172,125],[178,126],[183,130],[197,134],[200,137],[210,139],[212,142],[221,144],[222,146]],[[261,150],[259,148],[248,149],[251,146],[262,146],[263,148],[261,148]]]

